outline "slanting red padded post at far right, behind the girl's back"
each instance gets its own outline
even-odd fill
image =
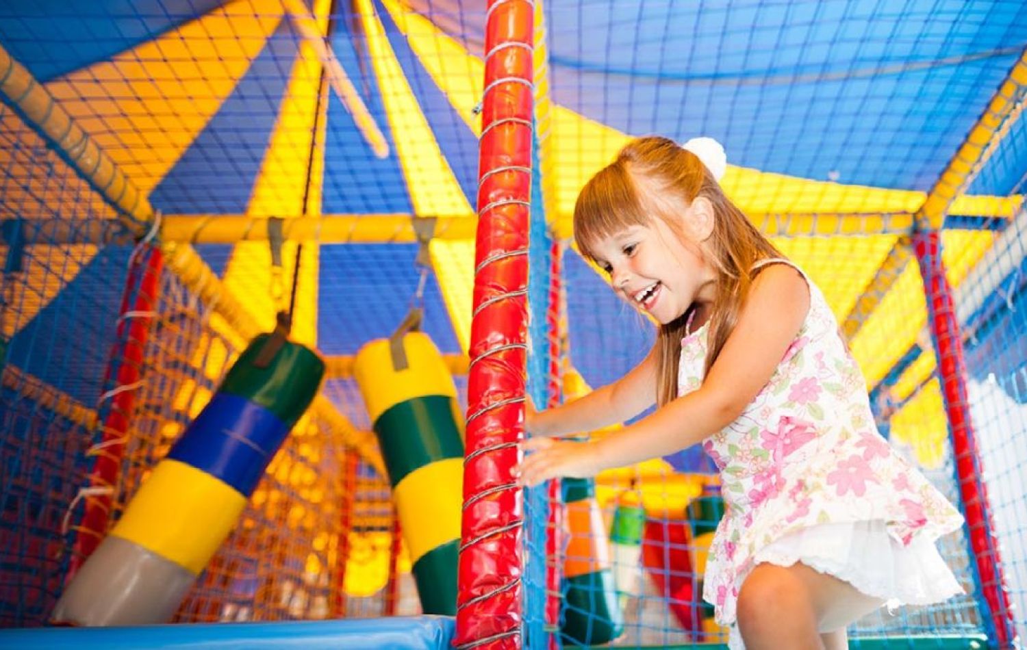
[[[981,456],[971,419],[962,337],[952,288],[942,261],[941,235],[934,230],[917,232],[913,235],[913,251],[923,278],[930,335],[938,357],[960,507],[966,520],[969,555],[975,569],[976,598],[989,639],[994,640],[999,648],[1010,648],[1017,636],[1016,621],[1010,609],[995,524],[988,505]]]

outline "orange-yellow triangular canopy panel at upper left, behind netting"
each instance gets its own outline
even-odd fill
[[[46,88],[145,194],[218,112],[280,20],[236,0]]]

